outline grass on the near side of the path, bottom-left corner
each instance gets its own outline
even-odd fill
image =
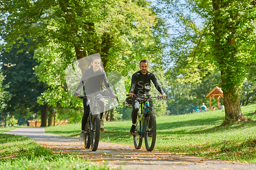
[[[16,128],[0,128],[0,169],[109,169],[79,156],[41,147],[25,136],[5,134]]]

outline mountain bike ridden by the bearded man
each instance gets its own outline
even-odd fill
[[[127,94],[127,96],[129,96]],[[150,106],[152,98],[162,99],[162,96],[153,96],[150,94],[133,96],[134,100],[139,101],[141,106],[141,115],[138,113],[138,119],[135,129],[135,134],[133,135],[134,147],[135,149],[140,149],[142,145],[142,140],[145,140],[145,147],[147,151],[153,151],[156,143],[157,136],[157,123],[156,116],[153,112],[153,106]]]

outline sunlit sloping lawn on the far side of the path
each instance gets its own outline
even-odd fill
[[[157,117],[155,150],[212,159],[256,163],[256,105],[241,107],[247,120],[220,126],[224,110]],[[105,122],[100,140],[133,145],[131,120]],[[78,137],[80,124],[45,128],[46,133]],[[144,144],[143,144],[144,145]]]

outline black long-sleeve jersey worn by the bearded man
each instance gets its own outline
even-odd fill
[[[151,72],[146,72],[145,75],[142,74],[141,70],[135,72],[132,76],[132,83],[130,92],[134,94],[143,95],[145,93],[148,93],[150,91],[151,87],[151,80],[153,84],[155,85],[156,89],[163,94],[162,88],[157,83],[157,79],[155,75]]]

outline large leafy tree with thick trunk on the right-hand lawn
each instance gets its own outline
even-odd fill
[[[242,121],[239,94],[246,65],[255,60],[255,1],[186,3],[180,6],[180,11],[178,6],[177,12],[169,10],[170,6],[177,7],[173,1],[164,4],[184,28],[172,41],[171,53],[180,67],[177,75],[183,82],[200,82],[207,72],[219,70],[225,105],[223,125]],[[202,27],[196,25],[196,17],[202,18]]]

